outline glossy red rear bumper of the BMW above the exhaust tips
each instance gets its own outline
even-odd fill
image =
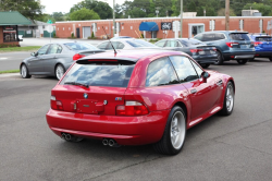
[[[113,138],[120,145],[145,145],[160,141],[170,110],[141,117],[98,116],[50,109],[49,128],[59,136],[70,133],[89,138]]]

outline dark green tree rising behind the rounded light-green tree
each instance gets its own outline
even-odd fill
[[[70,9],[70,13],[82,10],[83,8],[95,11],[102,20],[112,19],[112,8],[107,2],[97,0],[84,0]]]

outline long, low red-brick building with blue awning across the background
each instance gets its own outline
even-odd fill
[[[231,16],[230,29],[231,31],[246,31],[249,33],[271,33],[267,31],[268,21],[272,20],[271,16]],[[118,19],[116,33],[119,36],[139,37],[145,34],[146,38],[173,38],[178,36],[173,28],[173,22],[180,21],[178,17],[151,17],[151,19]],[[154,22],[158,25],[158,31],[139,31],[143,22]],[[162,23],[171,25],[170,31],[162,29]],[[102,29],[104,27],[104,31]],[[164,26],[163,26],[164,27]],[[195,16],[183,19],[183,37],[191,37],[201,32],[209,31],[224,31],[225,17],[224,16]],[[55,34],[60,38],[71,37],[74,33],[77,38],[87,38],[94,32],[97,38],[106,37],[108,34],[113,37],[113,21],[112,20],[97,20],[97,21],[67,21],[55,23]]]

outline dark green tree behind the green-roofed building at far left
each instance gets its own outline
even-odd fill
[[[36,0],[0,0],[0,11],[18,11],[30,20],[41,17],[44,8]]]

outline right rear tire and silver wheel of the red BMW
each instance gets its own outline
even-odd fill
[[[183,148],[186,131],[186,114],[181,107],[175,106],[169,114],[162,138],[153,144],[154,150],[164,155],[178,154]]]

